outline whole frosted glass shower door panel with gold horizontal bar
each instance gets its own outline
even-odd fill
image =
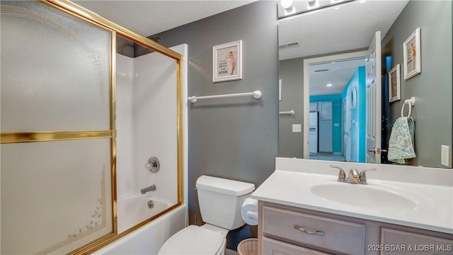
[[[1,1],[1,254],[67,254],[114,234],[114,33]]]

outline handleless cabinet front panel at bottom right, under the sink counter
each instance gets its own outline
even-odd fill
[[[380,254],[453,254],[453,240],[381,228]]]

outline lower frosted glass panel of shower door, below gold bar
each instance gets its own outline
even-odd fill
[[[1,254],[67,254],[113,231],[108,139],[1,145]]]

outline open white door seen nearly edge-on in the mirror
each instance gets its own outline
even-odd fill
[[[381,163],[381,31],[369,45],[366,62],[367,149],[368,163]]]

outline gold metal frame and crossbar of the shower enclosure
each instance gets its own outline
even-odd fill
[[[64,13],[69,13],[72,16],[81,18],[88,21],[100,28],[108,30],[111,35],[111,50],[110,50],[110,82],[109,82],[109,104],[110,104],[110,129],[109,130],[70,130],[70,131],[30,131],[30,132],[1,132],[0,144],[20,144],[20,143],[33,143],[33,142],[56,142],[56,141],[71,141],[71,140],[96,140],[96,139],[109,139],[110,140],[110,185],[112,202],[112,215],[113,215],[113,232],[97,239],[86,246],[74,250],[71,254],[90,254],[103,246],[114,242],[121,237],[129,234],[130,232],[146,225],[154,220],[156,217],[164,215],[166,212],[177,208],[183,203],[183,88],[182,88],[182,64],[183,56],[178,52],[170,50],[158,43],[146,38],[142,35],[134,33],[108,19],[93,13],[86,8],[78,6],[71,1],[60,0],[41,0],[49,6],[57,8]],[[117,156],[117,143],[116,143],[116,35],[131,40],[134,43],[148,47],[151,50],[159,52],[167,57],[176,60],[176,102],[177,102],[177,183],[178,183],[178,202],[170,208],[160,212],[154,217],[140,222],[138,225],[127,229],[120,234],[117,233],[117,175],[116,175],[116,156]]]

